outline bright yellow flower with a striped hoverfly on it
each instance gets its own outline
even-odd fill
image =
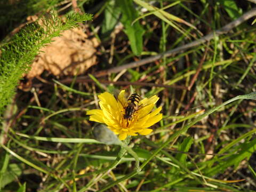
[[[127,135],[147,135],[153,130],[148,127],[154,125],[162,119],[159,113],[162,107],[152,111],[155,103],[159,99],[156,95],[139,101],[139,109],[135,111],[131,119],[124,118],[127,99],[124,97],[125,91],[122,90],[116,100],[113,94],[108,92],[101,93],[99,105],[101,109],[87,111],[90,121],[105,123],[115,134],[119,134],[119,139],[124,140]],[[151,113],[150,113],[151,112]]]

